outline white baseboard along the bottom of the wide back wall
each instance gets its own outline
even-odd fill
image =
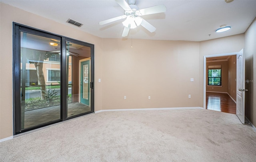
[[[106,111],[137,111],[137,110],[177,110],[177,109],[204,109],[202,107],[180,107],[180,108],[129,108],[129,109],[109,109],[109,110],[99,110],[99,112],[106,112]]]

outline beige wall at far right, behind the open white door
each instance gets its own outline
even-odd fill
[[[245,115],[256,126],[256,18],[245,32],[245,65],[246,65],[246,80],[250,82],[245,83],[246,102]]]

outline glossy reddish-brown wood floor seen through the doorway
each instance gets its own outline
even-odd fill
[[[206,92],[206,109],[236,114],[236,103],[226,93]]]

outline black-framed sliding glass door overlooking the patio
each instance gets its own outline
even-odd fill
[[[14,134],[94,112],[93,52],[92,44],[14,23]]]

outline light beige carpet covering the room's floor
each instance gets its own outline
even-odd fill
[[[100,112],[0,143],[2,162],[255,162],[256,132],[202,109]]]

